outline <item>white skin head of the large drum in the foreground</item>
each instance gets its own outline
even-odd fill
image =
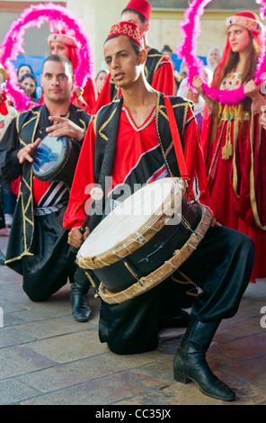
[[[127,245],[131,239],[141,238],[146,228],[150,229],[165,211],[173,214],[181,209],[183,192],[180,178],[169,177],[147,184],[121,202],[93,230],[78,252],[78,261],[105,256]]]

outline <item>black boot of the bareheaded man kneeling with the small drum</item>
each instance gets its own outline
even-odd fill
[[[91,284],[80,272],[78,275],[80,277],[75,275],[75,282],[71,285],[72,316],[76,321],[84,322],[89,320],[92,313],[88,303],[88,293]]]

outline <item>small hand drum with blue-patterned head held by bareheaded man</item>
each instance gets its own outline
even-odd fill
[[[40,181],[71,186],[80,148],[69,137],[45,137],[33,157],[33,174]]]

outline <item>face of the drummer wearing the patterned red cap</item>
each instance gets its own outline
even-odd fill
[[[111,78],[120,88],[137,80],[141,72],[141,58],[133,49],[129,37],[120,35],[104,44],[104,58]]]

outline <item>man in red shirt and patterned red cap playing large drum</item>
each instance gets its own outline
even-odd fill
[[[64,218],[65,227],[71,229],[68,242],[74,247],[89,241],[90,231],[101,226],[102,216],[94,214],[84,235],[79,231],[93,184],[100,184],[102,192],[112,194],[117,201],[119,193],[126,192],[126,185],[132,190],[134,185],[181,175],[165,110],[166,97],[148,85],[144,76],[146,50],[141,35],[134,23],[118,23],[104,43],[104,58],[122,96],[102,107],[84,139]],[[170,100],[190,176],[189,189],[208,205],[206,172],[191,103],[181,97]],[[108,237],[106,230],[103,242],[104,238],[110,241]],[[223,401],[233,401],[235,393],[211,372],[205,356],[220,321],[235,315],[252,269],[253,241],[218,225],[215,219],[199,247],[179,268],[202,293],[193,303],[189,327],[174,357],[174,378],[181,383],[191,379],[201,392]],[[154,349],[160,316],[175,302],[178,290],[170,277],[128,301],[102,301],[101,342],[107,342],[116,354]]]

